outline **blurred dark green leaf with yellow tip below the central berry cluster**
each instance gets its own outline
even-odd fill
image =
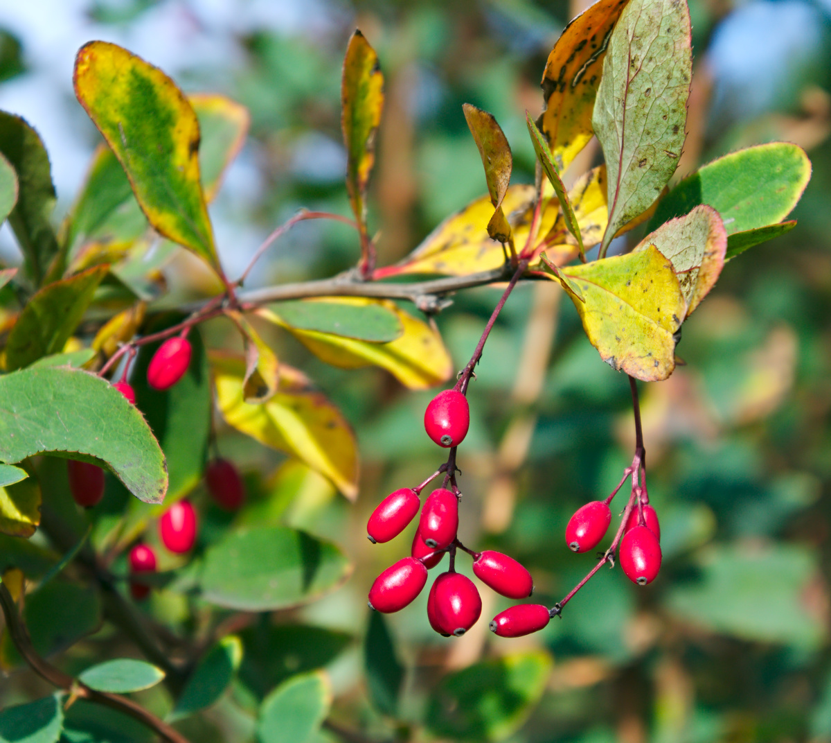
[[[500,741],[519,730],[543,696],[551,659],[518,652],[445,676],[430,697],[425,721],[454,741]]]

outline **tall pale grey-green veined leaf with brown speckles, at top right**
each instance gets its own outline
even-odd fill
[[[675,172],[691,74],[686,2],[631,0],[612,32],[592,116],[609,181],[609,223],[600,255]]]

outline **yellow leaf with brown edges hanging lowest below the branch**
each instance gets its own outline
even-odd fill
[[[212,354],[210,361],[219,409],[229,425],[307,463],[347,498],[356,498],[358,461],[352,428],[323,394],[306,389],[302,374],[282,366],[278,393],[268,402],[248,404],[243,399],[245,360]]]

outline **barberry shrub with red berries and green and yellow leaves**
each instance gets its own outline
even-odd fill
[[[686,2],[598,0],[553,47],[542,111],[524,114],[534,183],[510,182],[513,156],[504,131],[490,113],[465,105],[460,116],[479,149],[487,196],[448,217],[404,260],[377,265],[367,186],[384,105],[381,67],[356,31],[341,81],[352,215],[297,212],[239,276],[227,275],[219,260],[208,205],[245,139],[243,106],[219,95],[186,96],[130,51],[87,43],[76,57],[75,91],[103,139],[57,230],[42,141],[27,121],[0,113],[0,217],[23,255],[21,266],[0,273],[7,287],[0,530],[8,545],[39,532],[25,548],[8,547],[0,602],[4,642],[56,692],[0,712],[0,736],[56,741],[66,726],[66,740],[84,737],[96,728],[94,716],[71,717],[78,700],[129,716],[166,741],[185,741],[188,728],[180,721],[214,705],[226,689],[262,741],[286,740],[280,735],[289,728],[300,731],[293,740],[312,740],[327,721],[332,693],[317,668],[337,654],[329,649],[341,648],[342,637],[303,626],[272,632],[261,618],[314,602],[352,573],[344,548],[273,513],[286,508],[280,495],[286,483],[313,488],[309,478],[354,501],[356,437],[312,379],[278,359],[268,342],[274,330],[325,364],[374,364],[408,389],[449,388],[426,405],[420,433],[436,444],[435,471],[418,484],[399,483],[386,498],[365,493],[380,502],[367,523],[370,541],[397,538],[401,547],[397,561],[363,588],[378,612],[371,615],[366,666],[381,711],[396,714],[403,680],[381,613],[414,612],[415,602],[421,612],[426,607],[425,626],[455,642],[487,611],[479,627],[489,622],[505,638],[494,641],[507,642],[545,631],[616,559],[632,582],[661,579],[636,380],[660,382],[672,374],[682,324],[727,261],[794,227],[784,219],[809,179],[807,157],[798,146],[774,142],[725,156],[671,185],[691,85]],[[566,188],[561,174],[593,136],[602,164]],[[352,228],[355,267],[330,279],[244,290],[260,256],[303,220]],[[636,229],[642,239],[616,241]],[[204,263],[214,294],[178,304],[165,298],[160,270],[179,249]],[[411,275],[422,278],[410,281]],[[548,601],[550,579],[545,596],[532,599],[534,579],[514,557],[460,540],[470,518],[457,467],[459,448],[469,442],[467,395],[477,367],[488,374],[479,362],[500,312],[514,288],[531,281],[556,282],[572,300],[600,359],[627,375],[635,422],[632,463],[617,488],[598,493],[602,499],[561,525],[563,550],[601,549],[586,577],[558,602]],[[484,285],[498,285],[501,297],[470,360],[455,369],[432,316],[451,293]],[[402,309],[405,303],[411,311]],[[222,337],[205,332],[219,324],[234,338],[206,342]],[[263,483],[249,491],[233,453],[219,452],[214,410],[227,428],[286,456],[269,485],[273,498],[260,492]],[[612,499],[629,478],[632,489],[616,520]],[[434,488],[423,493],[430,483]],[[613,536],[603,545],[610,524]],[[447,569],[424,591],[428,570],[445,553]],[[479,583],[457,572],[461,553],[471,558]],[[485,601],[482,586],[494,594],[485,592]],[[496,594],[519,603],[497,604]],[[35,617],[32,607],[49,596],[52,617]],[[27,624],[37,632],[44,623],[54,626],[71,608],[86,619],[70,632],[46,632],[60,638],[52,645],[34,629],[27,632]],[[95,662],[87,652],[65,662],[54,655],[94,632],[102,618],[144,660]],[[273,660],[269,653],[278,655],[274,643],[281,642],[315,651]],[[106,652],[104,644],[94,647]],[[247,666],[243,650],[251,656]],[[2,657],[10,656],[3,650]],[[81,661],[91,667],[83,670]],[[510,662],[488,677],[518,672]],[[544,682],[535,679],[545,667],[537,660],[523,671],[522,683],[530,678],[537,690],[526,695],[527,704],[542,693]],[[123,696],[163,680],[166,710]],[[425,724],[452,737],[455,723],[442,709]],[[506,713],[499,736],[522,717],[522,710]]]

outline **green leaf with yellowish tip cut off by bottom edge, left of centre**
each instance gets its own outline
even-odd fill
[[[332,689],[322,671],[293,676],[271,692],[260,706],[260,743],[305,743],[321,726],[332,706]]]

